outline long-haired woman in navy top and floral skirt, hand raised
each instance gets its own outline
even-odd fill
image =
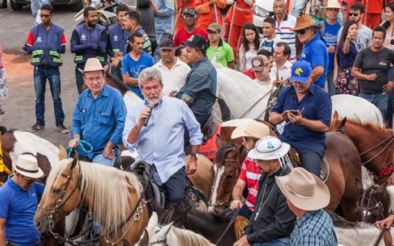
[[[343,26],[336,52],[338,64],[337,75],[334,76],[336,78],[334,82],[336,94],[359,94],[359,81],[352,76],[353,63],[358,53],[354,44],[358,30],[359,28],[355,21],[348,21]]]

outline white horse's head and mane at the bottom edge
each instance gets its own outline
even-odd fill
[[[152,213],[148,225],[141,235],[136,246],[157,245],[157,246],[214,246],[201,235],[185,229],[179,229],[172,223],[161,226],[158,224],[158,216]]]

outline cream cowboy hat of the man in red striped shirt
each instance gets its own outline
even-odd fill
[[[232,131],[231,139],[239,137],[251,137],[261,139],[269,136],[269,128],[266,124],[253,120],[250,123],[246,123],[238,126]]]

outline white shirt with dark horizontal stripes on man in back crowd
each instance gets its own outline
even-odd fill
[[[273,16],[275,19],[276,17]],[[286,14],[285,19],[278,23],[276,21],[276,36],[280,37],[283,42],[289,44],[292,49],[292,54],[290,54],[289,62],[296,62],[296,32],[291,31],[296,26],[296,17],[293,15]]]

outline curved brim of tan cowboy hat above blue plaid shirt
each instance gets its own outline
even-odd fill
[[[311,198],[302,198],[289,191],[286,186],[289,181],[289,175],[281,177],[276,176],[275,180],[283,195],[289,199],[294,206],[305,211],[314,211],[327,207],[330,200],[330,194],[327,185],[325,185],[323,181],[315,175],[313,175],[313,178],[316,181],[316,190],[315,195]]]

